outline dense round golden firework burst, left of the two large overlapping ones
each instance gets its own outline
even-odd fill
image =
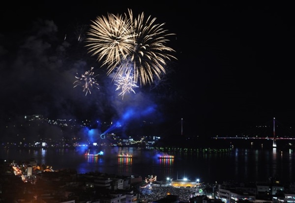
[[[107,65],[109,72],[125,59],[133,49],[134,38],[130,21],[122,15],[108,14],[107,17],[97,17],[91,21],[89,29],[89,53],[97,55],[98,61],[103,61],[102,65]]]

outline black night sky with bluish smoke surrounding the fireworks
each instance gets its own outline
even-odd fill
[[[42,114],[115,121],[132,109],[130,120],[153,121],[159,124],[156,133],[180,133],[183,118],[183,133],[201,136],[236,135],[273,117],[294,125],[291,5],[164,2],[11,1],[2,6],[1,119]],[[84,39],[96,16],[128,8],[135,16],[144,12],[157,18],[176,34],[168,46],[178,60],[168,63],[157,85],[122,100],[105,69],[87,53]],[[85,96],[73,82],[77,72],[90,67],[100,76],[100,89]],[[146,113],[150,107],[153,112]]]

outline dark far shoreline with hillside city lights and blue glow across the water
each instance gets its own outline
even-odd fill
[[[118,137],[121,139],[135,139],[136,141],[143,138],[151,139],[157,138],[162,140],[163,144],[174,143],[180,145],[192,145],[193,143],[187,143],[187,139],[191,141],[201,141],[202,145],[207,145],[207,142],[214,140],[219,144],[222,140],[236,140],[243,139],[249,142],[252,139],[266,139],[266,140],[289,140],[290,144],[295,139],[294,126],[286,126],[280,121],[269,120],[262,125],[250,126],[247,130],[236,135],[213,135],[211,137],[191,135],[183,133],[182,121],[177,132],[167,129],[167,131],[159,132],[157,124],[154,124],[152,120],[137,120],[136,122],[129,123],[129,126],[121,125],[119,122],[113,121],[98,121],[98,120],[78,120],[78,119],[52,119],[44,117],[43,115],[26,115],[16,118],[7,118],[6,121],[0,126],[3,135],[0,141],[2,144],[5,142],[8,144],[21,144],[21,145],[34,145],[35,143],[50,142],[68,142],[67,145],[73,145],[74,143],[101,143],[106,140],[107,137]],[[107,143],[113,143],[107,139]],[[233,141],[234,141],[233,140]],[[214,142],[216,142],[214,141]],[[254,141],[254,140],[253,140]],[[217,142],[217,143],[218,143]],[[236,142],[236,141],[235,141]],[[243,141],[242,141],[243,142]],[[199,142],[198,142],[199,143]],[[240,142],[239,142],[240,143]],[[13,145],[14,145],[13,144]],[[196,145],[193,144],[193,145]]]

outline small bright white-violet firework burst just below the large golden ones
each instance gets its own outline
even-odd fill
[[[118,95],[122,96],[122,99],[124,98],[124,94],[126,92],[130,93],[130,91],[132,91],[133,93],[135,93],[133,88],[138,87],[136,85],[136,82],[133,80],[131,69],[126,70],[124,75],[119,75],[118,79],[115,81],[115,85],[118,86],[116,88],[116,91],[121,90]]]

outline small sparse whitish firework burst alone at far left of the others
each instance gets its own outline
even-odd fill
[[[92,70],[93,70],[93,67],[91,67],[91,69],[89,71],[86,71],[84,74],[81,74],[81,77],[78,77],[78,73],[77,73],[77,76],[75,76],[75,78],[77,78],[78,80],[74,82],[74,85],[75,85],[74,87],[77,87],[77,86],[83,87],[83,91],[86,91],[85,96],[87,95],[88,92],[91,94],[90,88],[95,87],[99,89],[98,83],[95,80],[95,77],[97,75],[94,76],[94,72]]]

